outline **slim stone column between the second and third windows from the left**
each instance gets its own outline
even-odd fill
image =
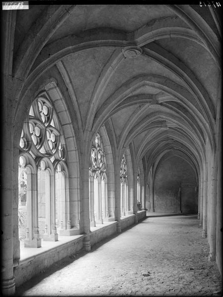
[[[120,184],[120,166],[114,164],[114,220],[117,221],[117,233],[121,233],[121,184]]]

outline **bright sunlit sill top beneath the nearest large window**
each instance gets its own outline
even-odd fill
[[[27,261],[32,260],[37,255],[43,254],[47,251],[56,252],[57,247],[65,246],[67,243],[75,242],[80,238],[84,238],[85,235],[74,235],[74,236],[58,236],[58,241],[50,242],[41,240],[41,247],[22,247],[20,249],[19,264],[24,264]]]

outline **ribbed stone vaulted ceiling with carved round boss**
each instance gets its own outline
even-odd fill
[[[18,10],[12,72],[24,81],[19,96],[55,77],[69,93],[77,133],[105,124],[119,154],[130,145],[148,169],[168,151],[199,168],[206,139],[215,146],[219,12],[199,5]]]

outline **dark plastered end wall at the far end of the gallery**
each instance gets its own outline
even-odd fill
[[[154,179],[155,211],[179,213],[181,187],[182,212],[195,213],[195,185],[195,171],[187,161],[178,156],[161,160]]]

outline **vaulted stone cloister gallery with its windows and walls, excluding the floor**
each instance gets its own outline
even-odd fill
[[[46,1],[1,11],[5,296],[146,210],[197,214],[222,274],[220,13]]]

